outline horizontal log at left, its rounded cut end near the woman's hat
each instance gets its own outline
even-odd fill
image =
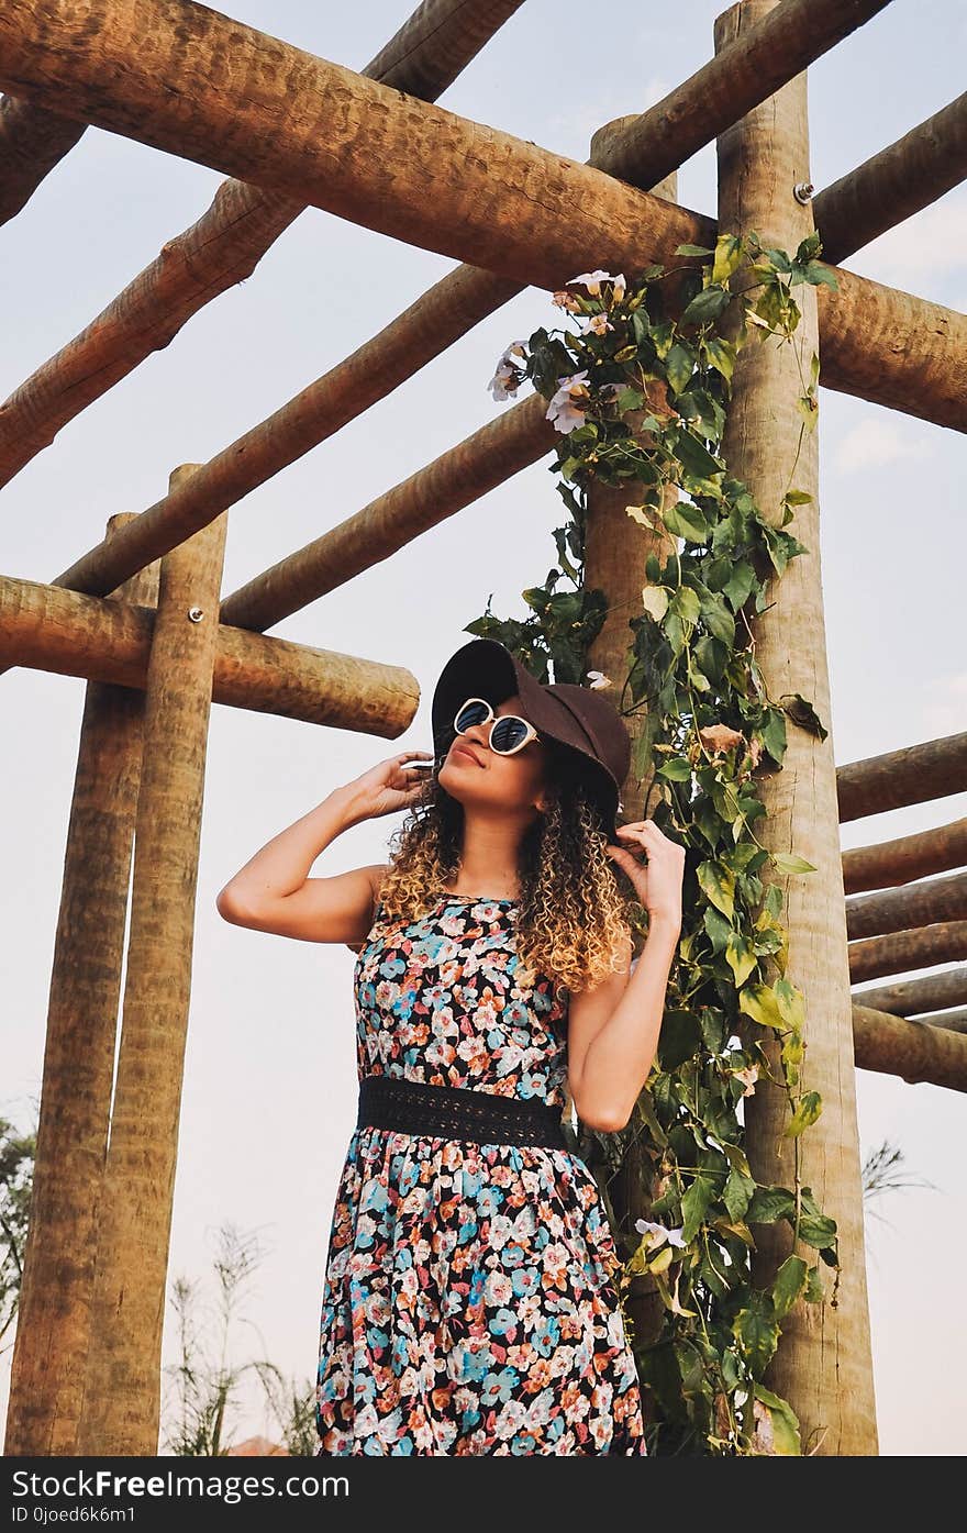
[[[124,601],[0,576],[0,662],[144,690],[155,613]],[[420,685],[385,665],[219,624],[213,702],[395,739]]]

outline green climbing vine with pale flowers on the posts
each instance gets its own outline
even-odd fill
[[[766,863],[780,878],[815,869],[756,835],[759,779],[782,768],[788,722],[818,737],[826,730],[798,693],[769,696],[751,642],[768,583],[809,552],[788,524],[811,500],[792,481],[803,434],[815,428],[818,359],[803,356],[794,290],[835,287],[820,248],[817,235],[788,256],[754,233],[723,233],[714,250],[680,245],[682,264],[650,265],[630,284],[582,273],[553,296],[562,323],[510,345],[490,380],[495,399],[524,380],[547,399],[569,518],[553,532],[558,564],[523,592],[530,615],[500,619],[487,602],[467,632],[500,639],[543,681],[553,667],[555,681],[613,687],[619,711],[641,716],[631,770],[650,779],[644,814],[687,848],[682,934],[651,1075],[625,1130],[572,1136],[624,1246],[622,1294],[648,1274],[661,1295],[661,1332],[636,1343],[636,1357],[668,1452],[803,1452],[791,1404],[762,1380],[783,1317],[798,1300],[824,1302],[820,1263],[834,1269],[834,1305],[840,1280],[837,1225],[800,1177],[800,1136],[823,1104],[800,1084],[805,996],[786,978],[783,888],[760,877]],[[798,363],[803,420],[780,506],[757,506],[722,457],[736,357],[752,334],[791,345]],[[641,610],[628,619],[630,668],[618,678],[587,670],[607,613],[605,593],[584,584],[595,480],[627,484],[627,514],[673,549],[647,558]],[[641,950],[639,903],[633,924]],[[779,1046],[780,1073],[766,1039]],[[763,1078],[788,1096],[792,1187],[759,1183],[743,1150],[740,1104]],[[651,1217],[622,1229],[608,1187],[633,1141]],[[757,1289],[749,1225],[775,1220],[817,1259],[789,1256]]]

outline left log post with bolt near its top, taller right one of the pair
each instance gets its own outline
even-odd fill
[[[175,469],[172,487],[195,468]],[[222,512],[161,563],[81,1455],[158,1452],[161,1334],[225,527]]]

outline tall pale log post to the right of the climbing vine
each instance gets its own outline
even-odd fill
[[[716,51],[754,26],[777,0],[742,0],[716,21]],[[719,228],[748,235],[794,251],[812,231],[809,205],[794,196],[809,181],[806,75],[783,86],[717,140]],[[795,333],[805,376],[818,353],[817,294],[794,290],[803,310]],[[745,480],[763,514],[782,521],[783,494],[792,477],[814,500],[795,507],[791,530],[808,547],[769,587],[771,606],[754,622],[756,656],[772,699],[801,693],[826,730],[824,740],[789,721],[783,770],[762,782],[766,814],[759,835],[772,851],[795,851],[817,871],[783,877],[783,918],[789,931],[786,975],[806,996],[800,1090],[820,1091],[823,1111],[798,1139],[783,1137],[789,1122],[786,1095],[762,1079],[745,1102],[746,1150],[759,1182],[792,1187],[797,1171],[824,1213],[838,1225],[843,1266],[838,1306],[829,1305],[831,1274],[820,1262],[826,1302],[800,1300],[782,1321],[779,1349],[765,1383],[798,1415],[805,1453],[877,1453],[877,1416],[863,1245],[863,1187],[857,1133],[852,998],[846,941],[843,865],[840,855],[837,777],[829,728],[829,675],[820,569],[818,451],[805,431],[797,399],[803,383],[794,348],[760,343],[751,336],[739,354],[723,442],[729,472]],[[798,461],[797,460],[798,451]],[[795,463],[795,468],[794,468]],[[774,877],[762,869],[763,881]],[[762,1039],[762,1029],[756,1029]],[[765,1041],[782,1079],[775,1041]],[[792,1251],[783,1222],[756,1223],[752,1282],[771,1283]],[[817,1252],[797,1243],[809,1263]]]

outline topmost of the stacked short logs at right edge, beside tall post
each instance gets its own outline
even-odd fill
[[[837,768],[840,823],[967,789],[967,731]]]

